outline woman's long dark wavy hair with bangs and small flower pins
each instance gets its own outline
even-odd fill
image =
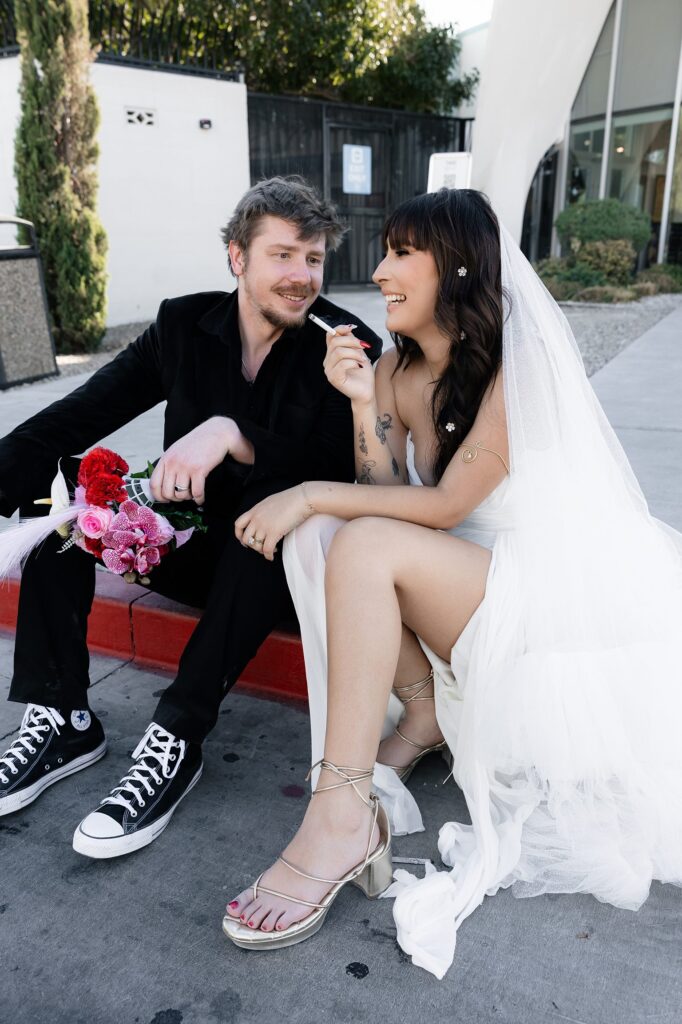
[[[438,271],[433,318],[451,339],[447,369],[433,389],[431,407],[433,475],[439,480],[502,362],[500,225],[482,193],[441,188],[401,203],[384,224],[383,244],[427,250]],[[394,334],[393,340],[395,373],[424,358],[412,338]],[[449,423],[455,430],[445,429]]]

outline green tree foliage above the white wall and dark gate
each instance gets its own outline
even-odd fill
[[[418,0],[93,0],[93,42],[159,59],[242,67],[258,92],[425,113],[473,94],[457,79],[460,42]],[[162,45],[163,41],[163,45]]]

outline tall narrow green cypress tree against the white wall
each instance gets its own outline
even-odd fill
[[[17,213],[36,225],[57,350],[91,351],[104,330],[106,238],[95,212],[98,112],[87,0],[15,0],[14,8]]]

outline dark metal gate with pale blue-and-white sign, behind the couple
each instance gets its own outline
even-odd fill
[[[361,285],[381,258],[387,213],[426,190],[432,153],[468,150],[471,121],[249,93],[251,180],[302,174],[350,227],[328,284]]]

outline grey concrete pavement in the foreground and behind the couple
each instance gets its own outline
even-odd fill
[[[0,431],[62,383],[0,395]],[[652,512],[682,528],[682,307],[593,383]],[[109,442],[141,463],[160,451],[158,420],[154,411],[143,430]],[[10,674],[11,639],[0,636],[3,692]],[[232,693],[205,744],[204,777],[167,833],[132,856],[91,861],[72,850],[73,829],[127,767],[167,682],[100,655],[92,680],[108,757],[0,820],[0,1024],[679,1024],[682,893],[671,886],[654,885],[638,913],[500,893],[462,927],[440,983],[395,944],[390,901],[354,888],[309,942],[232,947],[220,931],[225,900],[280,853],[304,807],[304,708]],[[0,701],[0,743],[19,718]],[[427,830],[395,840],[397,856],[439,863],[438,826],[466,817],[445,774],[435,759],[415,772]]]

